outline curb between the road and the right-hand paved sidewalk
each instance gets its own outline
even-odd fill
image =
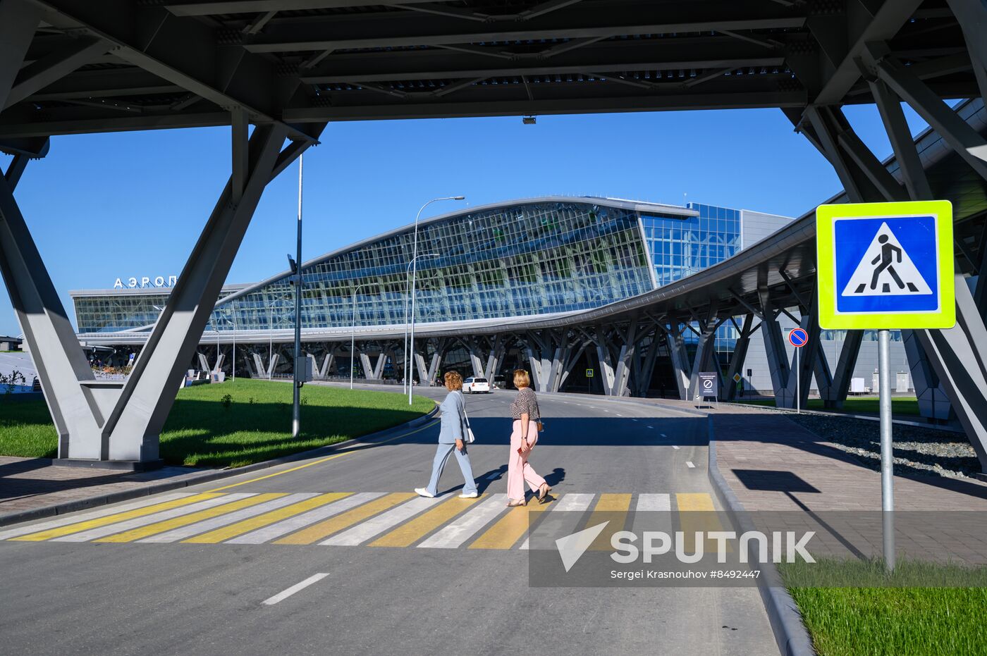
[[[726,508],[734,525],[741,531],[754,531],[754,525],[746,516],[743,504],[730,489],[720,468],[717,465],[717,442],[714,439],[713,416],[707,415],[707,430],[710,435],[709,470],[710,482],[716,490],[721,505]],[[751,551],[755,548],[753,541],[749,544]],[[775,633],[778,649],[784,656],[815,656],[812,648],[812,638],[809,637],[801,614],[788,589],[782,584],[778,568],[768,562],[762,566],[762,578],[758,580],[757,589],[761,593],[764,610],[768,613],[771,630]]]

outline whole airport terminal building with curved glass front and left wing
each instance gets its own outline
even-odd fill
[[[434,380],[439,369],[495,376],[527,367],[531,349],[524,339],[488,343],[486,350],[496,351],[491,366],[478,362],[489,358],[488,353],[479,355],[484,349],[475,344],[474,335],[490,333],[493,326],[522,327],[532,318],[564,318],[659,289],[736,255],[791,221],[701,203],[589,196],[514,200],[421,221],[416,378],[425,379],[427,372],[427,380]],[[405,226],[303,264],[303,350],[316,360],[317,375],[348,376],[352,362],[358,377],[403,376],[401,342],[410,312],[415,238],[415,227]],[[139,350],[168,293],[167,288],[118,282],[115,289],[70,292],[80,340],[105,352],[114,349],[117,358],[128,357]],[[203,333],[201,355],[190,366],[208,362],[214,368],[219,352],[220,367],[231,372],[235,341],[240,375],[289,373],[293,314],[290,271],[255,284],[225,286]],[[685,348],[694,350],[695,327],[682,328]],[[352,334],[355,353],[349,352]],[[731,322],[716,329],[721,366],[736,337]],[[752,344],[759,338],[755,333]],[[864,351],[861,367],[869,369]],[[741,375],[747,390],[770,394],[763,353],[763,348],[750,348]],[[668,358],[668,352],[657,354],[652,380],[639,393],[674,392],[671,368],[662,366]],[[592,391],[597,382],[585,370],[600,368],[594,360],[593,348],[584,348],[573,361],[573,374],[558,387]]]

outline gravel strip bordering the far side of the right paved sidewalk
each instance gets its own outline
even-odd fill
[[[849,417],[789,414],[789,419],[836,447],[853,454],[872,470],[880,469],[879,424]],[[961,433],[894,426],[894,473],[972,477],[980,461]]]

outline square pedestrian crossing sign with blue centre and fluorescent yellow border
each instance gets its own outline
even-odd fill
[[[952,328],[948,200],[819,205],[819,326]]]

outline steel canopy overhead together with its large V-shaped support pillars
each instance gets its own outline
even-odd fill
[[[979,0],[0,0],[0,151],[14,156],[0,181],[0,268],[61,436],[59,455],[157,458],[181,368],[266,183],[327,122],[779,108],[834,166],[851,201],[932,197],[904,101],[943,137],[975,196],[987,179],[987,142],[942,101],[987,96],[984,34]],[[897,172],[844,117],[842,106],[861,103],[880,110]],[[126,383],[98,383],[14,188],[51,136],[216,125],[231,127],[230,181],[134,373]],[[957,228],[957,237],[966,260],[959,270],[979,273],[987,249],[970,244],[982,245],[981,235]],[[957,285],[966,292],[957,296],[957,328],[908,340],[917,387],[927,381],[920,400],[945,390],[981,443],[985,280],[973,290]],[[790,292],[777,299],[769,281],[748,282],[760,301],[744,300],[749,317],[777,318],[795,301],[812,324],[812,296],[785,276],[774,287]],[[707,341],[724,321],[708,310],[694,317]],[[621,358],[635,343],[630,331],[622,336]],[[848,335],[848,360],[855,343],[859,335]],[[815,366],[806,360],[803,381]],[[791,368],[776,364],[787,390]]]

